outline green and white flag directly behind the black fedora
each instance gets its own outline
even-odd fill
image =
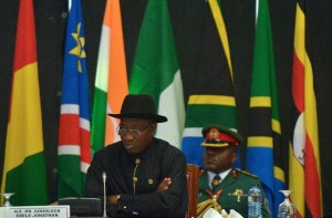
[[[167,116],[156,137],[180,147],[185,124],[183,82],[167,0],[149,0],[145,9],[129,80],[129,93],[149,94]]]

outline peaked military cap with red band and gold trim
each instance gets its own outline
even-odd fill
[[[203,146],[208,147],[226,147],[230,145],[238,146],[243,142],[242,136],[236,131],[227,128],[219,124],[210,124],[201,129],[205,141]]]

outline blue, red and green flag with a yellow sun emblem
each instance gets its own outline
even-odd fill
[[[80,197],[91,163],[89,79],[81,0],[72,0],[69,12],[62,81],[58,197]]]

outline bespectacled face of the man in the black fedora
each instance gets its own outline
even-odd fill
[[[118,133],[125,149],[131,154],[146,149],[154,136],[156,126],[156,123],[144,118],[122,118]]]

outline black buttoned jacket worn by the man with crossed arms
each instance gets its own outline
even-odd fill
[[[103,199],[103,172],[107,175],[107,195],[121,195],[117,205],[107,206],[110,217],[185,217],[186,158],[169,143],[154,138],[146,150],[136,155],[127,154],[122,142],[100,149],[87,170],[86,197]],[[172,185],[157,191],[165,177],[172,178]]]

